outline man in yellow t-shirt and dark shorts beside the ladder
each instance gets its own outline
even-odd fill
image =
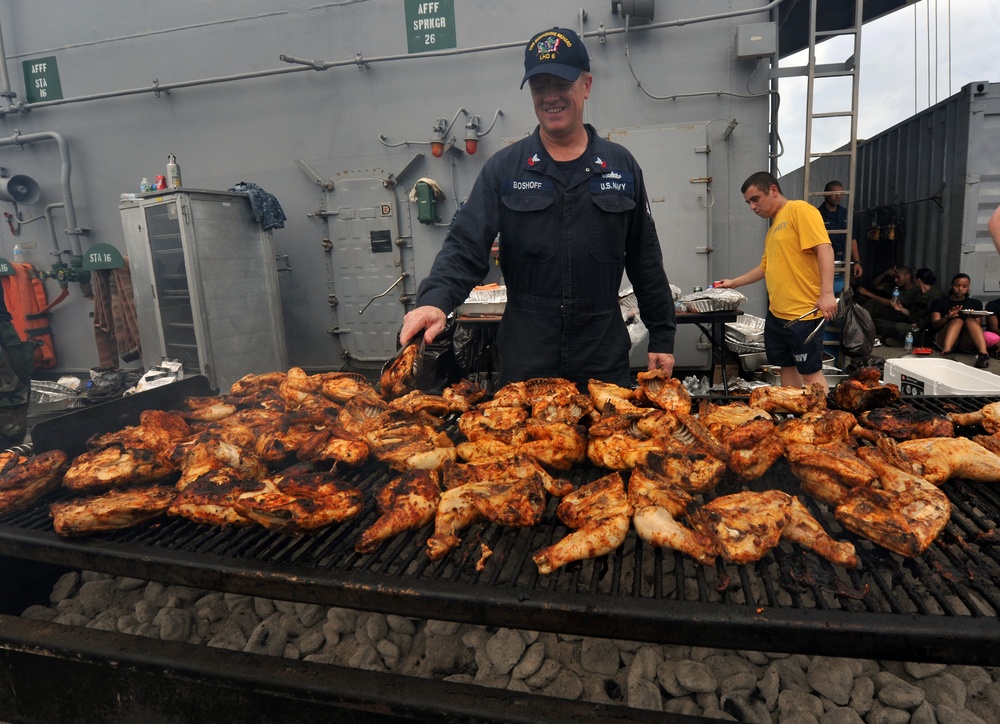
[[[802,387],[823,376],[823,335],[809,336],[820,318],[833,319],[833,247],[823,217],[812,204],[789,201],[778,180],[758,171],[743,182],[743,199],[750,209],[771,220],[760,264],[735,279],[716,286],[735,289],[761,279],[767,285],[768,310],[764,322],[764,350],[769,364],[781,368],[781,384]],[[810,313],[811,310],[819,311]],[[785,327],[796,317],[803,318]]]

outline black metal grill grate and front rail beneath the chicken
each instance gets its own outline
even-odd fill
[[[901,400],[938,413],[973,411],[990,401]],[[71,419],[76,414],[46,424],[78,428]],[[87,434],[98,431],[88,429]],[[571,479],[581,484],[605,472],[581,468]],[[997,486],[946,483],[951,522],[922,556],[904,559],[844,531],[825,505],[801,494],[782,460],[747,487],[798,493],[827,530],[855,544],[860,569],[838,568],[789,543],[752,565],[720,559],[705,567],[680,553],[651,548],[633,530],[613,553],[546,577],[538,574],[531,554],[567,532],[555,517],[554,499],[533,528],[471,526],[462,544],[438,562],[424,552],[429,528],[387,541],[371,554],[354,552],[361,531],[377,516],[374,494],[390,476],[377,462],[346,471],[345,478],[365,492],[365,511],[301,538],[259,527],[215,528],[170,518],[65,539],[52,530],[47,512],[51,502],[69,497],[59,492],[27,510],[0,516],[0,555],[210,590],[490,626],[729,649],[1000,665]],[[740,485],[727,476],[712,495],[734,492]],[[479,572],[481,543],[493,553]]]

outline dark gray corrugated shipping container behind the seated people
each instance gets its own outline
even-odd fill
[[[813,191],[828,179],[846,183],[847,161],[818,159],[810,175]],[[802,177],[798,168],[782,178],[790,198],[802,198]],[[942,289],[964,272],[973,296],[1000,297],[1000,256],[986,226],[1000,205],[1000,83],[968,83],[859,142],[855,186],[866,279],[893,264],[927,266]],[[902,232],[887,238],[883,230],[899,220]]]

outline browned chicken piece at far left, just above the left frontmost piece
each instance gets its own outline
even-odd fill
[[[77,456],[63,476],[63,485],[70,490],[94,491],[155,483],[176,473],[176,465],[152,450],[116,445]]]

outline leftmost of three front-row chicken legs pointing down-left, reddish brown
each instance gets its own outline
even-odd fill
[[[379,518],[361,534],[354,550],[371,553],[383,541],[429,525],[441,502],[434,470],[412,470],[389,481],[375,496]]]

